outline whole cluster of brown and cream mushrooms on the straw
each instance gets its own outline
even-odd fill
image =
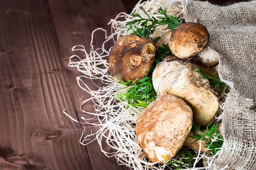
[[[173,158],[183,144],[197,149],[199,145],[189,138],[193,120],[206,127],[219,108],[208,80],[201,79],[195,70],[206,71],[204,67],[218,64],[218,54],[207,46],[209,33],[198,23],[180,24],[157,44],[134,34],[120,37],[109,54],[108,74],[124,82],[147,76],[157,47],[166,42],[175,57],[167,57],[154,69],[157,99],[145,108],[136,124],[137,139],[145,155],[159,163]]]

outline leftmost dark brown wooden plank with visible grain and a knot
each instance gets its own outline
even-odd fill
[[[0,5],[0,170],[90,170],[45,0]]]

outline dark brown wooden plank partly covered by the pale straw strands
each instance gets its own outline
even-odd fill
[[[71,48],[74,45],[84,45],[86,50],[90,51],[91,32],[98,27],[103,27],[110,31],[110,27],[107,26],[109,20],[116,17],[119,12],[125,11],[125,7],[121,0],[66,0],[65,3],[63,2],[62,0],[49,0],[49,5],[61,53],[64,56],[64,67],[67,71],[79,117],[81,117],[86,116],[80,111],[81,103],[90,96],[77,85],[76,77],[80,76],[81,73],[76,68],[70,68],[67,65],[71,55],[77,54],[83,57],[84,54],[72,52]],[[96,47],[102,44],[104,37],[105,35],[99,31],[99,34],[94,37]],[[90,80],[87,80],[87,85],[96,90]],[[83,100],[81,100],[82,96],[84,96]],[[87,103],[85,107],[87,111],[93,111],[93,103]],[[84,124],[82,125],[84,126]],[[86,135],[90,134],[91,130],[96,132],[99,129],[99,127],[91,125],[85,125],[85,127]],[[97,141],[88,144],[87,150],[94,170],[128,169],[127,167],[119,166],[114,157],[111,159],[106,157],[100,151]]]

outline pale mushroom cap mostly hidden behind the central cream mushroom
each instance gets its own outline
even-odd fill
[[[193,61],[179,59],[177,57],[166,58],[162,62],[160,62],[153,71],[152,74],[152,82],[155,91],[158,91],[158,87],[162,81],[163,76],[166,73],[172,71],[178,71],[184,68],[201,68],[199,65],[193,63]],[[204,68],[202,68],[204,70]]]

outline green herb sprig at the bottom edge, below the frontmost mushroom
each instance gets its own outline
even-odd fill
[[[197,155],[198,153],[195,153],[195,151],[190,149],[189,147],[182,147],[177,153],[176,160],[171,160],[166,164],[172,165],[175,170],[184,169],[185,166],[192,167],[192,165],[195,163],[195,157]]]

